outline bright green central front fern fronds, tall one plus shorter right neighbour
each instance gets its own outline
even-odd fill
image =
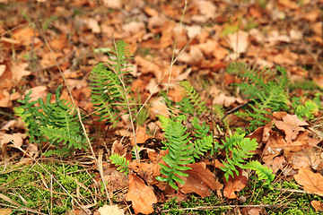
[[[186,116],[179,115],[172,119],[159,116],[159,118],[167,140],[162,142],[165,145],[163,150],[169,150],[169,154],[162,158],[168,167],[160,164],[162,166],[161,173],[165,177],[157,176],[156,179],[167,182],[174,189],[178,189],[174,181],[184,184],[179,176],[188,176],[183,173],[183,171],[190,169],[185,165],[195,162],[195,159],[201,159],[200,156],[204,156],[206,151],[213,149],[213,135],[210,133],[209,126],[205,123],[200,124],[196,116],[191,122],[194,137],[191,137],[188,128],[183,125]],[[191,142],[192,140],[194,141]],[[215,143],[214,149],[218,148],[218,144]]]

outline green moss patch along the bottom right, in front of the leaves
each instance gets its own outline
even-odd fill
[[[257,183],[254,183],[255,181]],[[257,181],[257,178],[250,176],[249,185],[247,185],[240,193],[240,196],[245,196],[247,202],[244,205],[273,205],[273,207],[265,207],[266,214],[320,214],[316,212],[310,205],[313,200],[323,201],[323,197],[309,194],[309,193],[292,193],[292,190],[301,190],[300,186],[295,181],[284,181],[281,183],[275,183],[272,185],[274,190],[269,190],[263,187],[261,182]],[[222,214],[229,211],[228,205],[240,205],[238,200],[227,200],[217,197],[214,193],[211,196],[201,199],[194,195],[188,197],[185,202],[177,202],[175,199],[170,200],[163,205],[162,210],[170,210],[163,214]],[[212,206],[223,206],[216,209],[212,209]],[[278,207],[279,205],[282,205]],[[196,208],[199,206],[210,207],[209,210],[188,210],[188,208]]]

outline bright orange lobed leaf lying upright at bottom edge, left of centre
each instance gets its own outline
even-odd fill
[[[127,201],[132,202],[135,214],[149,214],[153,212],[153,203],[157,198],[153,190],[144,184],[144,180],[134,174],[129,176],[129,192],[126,195]]]

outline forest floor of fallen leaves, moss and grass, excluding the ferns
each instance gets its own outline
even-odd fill
[[[322,12],[322,0],[0,0],[0,214],[319,214]],[[118,122],[100,122],[92,105],[90,74],[111,61],[108,53],[118,40],[133,56],[127,86],[138,107],[145,104],[135,135],[121,109]],[[229,112],[252,99],[235,85],[244,79],[228,73],[236,62],[259,73],[266,68],[265,85],[282,75],[273,77],[277,66],[287,73],[286,108],[268,110],[266,123],[255,119],[260,123],[249,127],[249,117]],[[179,190],[155,179],[168,153],[159,116],[170,113],[161,93],[179,102],[185,97],[182,81],[196,90],[199,104],[205,102],[208,112],[199,120],[214,142],[222,144],[232,133],[258,142],[251,159],[272,169],[269,185],[243,168],[227,180],[222,168],[232,152],[223,151],[205,152],[187,165],[192,169],[185,185],[177,182]],[[45,100],[59,85],[60,99],[80,107],[92,147],[45,157],[48,145],[31,142],[14,107],[30,90],[32,100]],[[308,108],[307,115],[297,117],[295,104]],[[214,113],[215,107],[224,112]],[[140,163],[132,159],[135,145]],[[127,158],[127,176],[111,164],[111,154]]]

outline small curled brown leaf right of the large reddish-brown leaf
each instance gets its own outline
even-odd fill
[[[235,192],[240,192],[247,185],[247,176],[243,176],[242,171],[239,169],[239,176],[234,173],[234,177],[229,176],[229,180],[226,181],[224,178],[224,189],[223,196],[228,199],[237,198],[237,194]]]

